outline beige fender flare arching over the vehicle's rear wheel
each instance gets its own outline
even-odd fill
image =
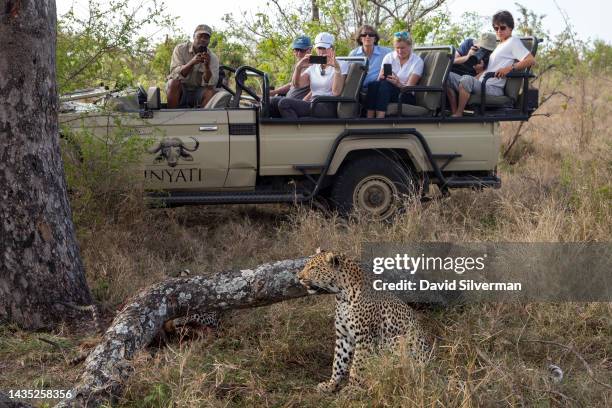
[[[347,138],[340,142],[338,150],[329,166],[328,175],[334,175],[346,156],[357,150],[376,150],[376,149],[397,149],[405,150],[412,161],[417,172],[431,171],[431,165],[427,161],[427,156],[420,143],[414,138],[402,139],[369,139],[367,136],[358,138]]]

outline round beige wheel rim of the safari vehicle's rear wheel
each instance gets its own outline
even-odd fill
[[[353,192],[353,203],[356,208],[375,218],[385,219],[395,212],[397,196],[397,187],[390,179],[372,175],[357,184]]]

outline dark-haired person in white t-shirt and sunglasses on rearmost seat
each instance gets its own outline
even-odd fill
[[[514,29],[514,18],[509,11],[498,11],[493,15],[493,30],[499,44],[489,57],[487,69],[480,75],[472,77],[464,75],[459,80],[455,90],[458,93],[457,106],[454,106],[454,98],[449,98],[453,117],[463,116],[463,110],[467,105],[471,94],[480,95],[482,84],[480,78],[487,72],[494,72],[495,78],[486,82],[485,93],[492,96],[502,96],[506,85],[506,75],[513,70],[522,70],[535,64],[535,58],[523,45],[521,40],[512,36]],[[452,82],[450,82],[452,84]]]

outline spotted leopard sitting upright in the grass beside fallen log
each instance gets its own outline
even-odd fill
[[[336,298],[332,374],[317,385],[317,391],[332,393],[345,383],[363,388],[367,359],[383,349],[400,351],[404,346],[421,364],[431,358],[432,347],[418,312],[388,292],[375,291],[358,261],[318,249],[297,278],[308,294]]]

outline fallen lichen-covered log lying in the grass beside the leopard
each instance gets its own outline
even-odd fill
[[[305,296],[296,274],[307,259],[267,263],[209,277],[173,278],[144,289],[117,314],[85,360],[85,371],[72,389],[72,398],[56,407],[97,407],[116,402],[133,371],[130,360],[153,340],[167,320]]]

